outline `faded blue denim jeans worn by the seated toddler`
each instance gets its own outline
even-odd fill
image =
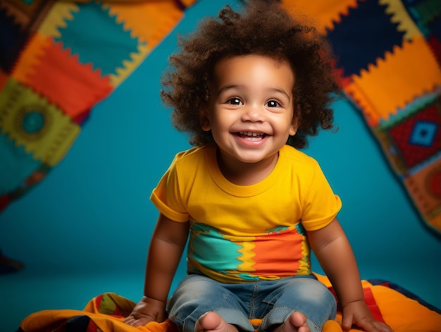
[[[262,319],[258,330],[263,332],[299,311],[306,316],[311,331],[320,332],[325,321],[335,318],[336,310],[335,297],[314,276],[226,284],[192,274],[170,297],[168,318],[180,331],[194,332],[201,315],[216,312],[242,331],[254,332],[249,319]]]

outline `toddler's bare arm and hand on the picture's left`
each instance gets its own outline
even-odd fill
[[[166,302],[173,276],[187,242],[189,223],[159,215],[147,258],[144,296],[125,319],[132,326],[166,319]]]

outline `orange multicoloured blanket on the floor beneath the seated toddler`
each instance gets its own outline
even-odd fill
[[[330,288],[325,276],[319,280]],[[363,281],[364,295],[375,319],[385,322],[395,332],[440,332],[441,311],[428,305],[398,285],[387,281]],[[331,288],[332,291],[332,288]],[[90,300],[85,309],[44,310],[27,316],[18,332],[178,332],[173,323],[151,322],[132,327],[123,323],[135,307],[135,302],[115,293],[104,293]],[[325,323],[323,332],[342,332],[337,319]],[[252,321],[258,325],[259,321]],[[353,328],[351,332],[360,331]]]

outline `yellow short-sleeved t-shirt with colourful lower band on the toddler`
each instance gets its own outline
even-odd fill
[[[305,230],[327,226],[342,206],[318,163],[285,145],[267,178],[242,186],[224,178],[216,149],[177,154],[151,194],[169,219],[190,221],[188,273],[223,283],[311,273]]]

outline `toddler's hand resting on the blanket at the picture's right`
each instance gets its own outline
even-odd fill
[[[351,302],[342,308],[342,328],[349,331],[352,324],[363,328],[366,332],[393,332],[386,324],[373,319],[371,312],[364,300]]]

